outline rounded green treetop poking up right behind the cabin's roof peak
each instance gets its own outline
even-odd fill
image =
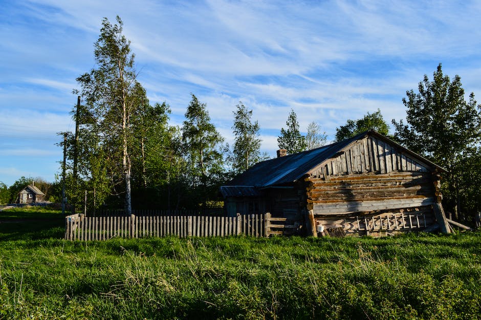
[[[389,127],[381,115],[381,110],[378,109],[378,111],[374,113],[368,112],[363,118],[356,121],[348,119],[346,124],[336,129],[335,142],[349,139],[370,129],[374,129],[384,136],[389,134]]]

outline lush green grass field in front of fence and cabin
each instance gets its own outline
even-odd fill
[[[480,232],[68,242],[58,211],[5,220],[0,319],[481,318]]]

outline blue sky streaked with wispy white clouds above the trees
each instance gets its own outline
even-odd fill
[[[402,98],[441,62],[481,100],[478,1],[63,1],[0,0],[0,181],[53,181],[60,131],[76,77],[95,67],[103,17],[119,15],[138,80],[152,104],[181,124],[190,93],[232,142],[238,101],[259,121],[271,157],[291,109],[301,131],[318,122],[332,139],[347,119],[381,110],[405,116]]]

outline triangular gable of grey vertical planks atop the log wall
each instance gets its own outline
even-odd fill
[[[429,166],[387,141],[366,136],[310,170],[314,176],[428,172]]]

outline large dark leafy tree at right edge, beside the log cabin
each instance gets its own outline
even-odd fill
[[[468,181],[462,181],[464,172],[478,169],[477,165],[469,167],[465,160],[480,142],[481,105],[473,93],[465,100],[461,78],[456,75],[451,81],[443,74],[441,63],[433,73],[433,80],[424,75],[418,89],[419,93],[407,91],[407,98],[403,99],[407,124],[392,120],[396,138],[412,151],[447,168],[449,173],[443,180],[445,204],[454,208],[457,215],[460,195],[466,191],[462,185],[469,181],[469,177],[464,178]],[[479,185],[475,187],[479,189]]]

